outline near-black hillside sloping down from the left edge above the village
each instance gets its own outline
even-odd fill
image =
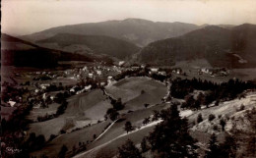
[[[58,61],[78,60],[93,62],[95,57],[71,54],[40,47],[31,42],[1,34],[1,62],[4,66],[52,68]]]

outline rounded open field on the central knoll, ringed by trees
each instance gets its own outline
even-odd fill
[[[107,93],[122,99],[125,110],[136,110],[143,108],[144,104],[160,103],[166,90],[164,84],[144,77],[121,79],[112,86],[106,87]]]

